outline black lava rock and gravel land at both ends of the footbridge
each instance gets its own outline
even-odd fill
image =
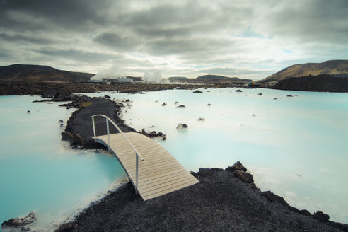
[[[71,115],[62,139],[74,148],[103,149],[91,139],[91,115],[107,115],[122,131],[134,131],[120,119],[121,108],[129,101],[86,95],[59,95],[52,100],[68,98],[71,103],[63,106],[78,110]],[[95,125],[100,129],[97,133],[105,133],[103,118],[95,118]],[[110,127],[110,132],[115,131]],[[146,134],[151,137],[150,134],[160,133]],[[56,231],[348,231],[347,224],[330,221],[323,212],[311,214],[289,206],[272,192],[260,191],[253,183],[253,175],[241,163],[225,170],[200,168],[192,175],[199,184],[146,202],[134,194],[128,182],[93,202],[74,221],[62,224]]]

